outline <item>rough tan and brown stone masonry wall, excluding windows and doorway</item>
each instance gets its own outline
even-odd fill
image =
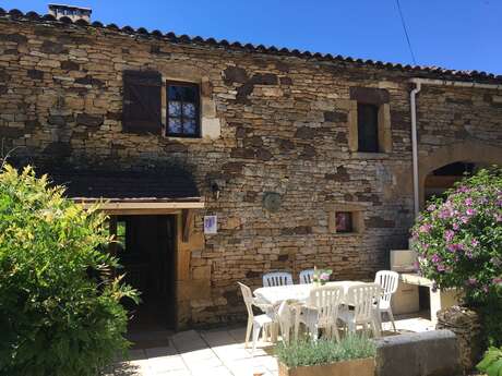
[[[203,137],[124,133],[122,71],[129,69],[199,83]],[[297,278],[314,265],[332,268],[336,279],[372,279],[391,248],[407,246],[411,76],[360,62],[0,17],[0,137],[5,148],[19,147],[16,158],[35,163],[174,163],[192,171],[206,208],[179,246],[179,320],[228,320],[244,313],[236,281],[256,287],[264,271],[287,269]],[[389,94],[386,153],[350,147],[351,87]],[[421,157],[466,140],[492,145],[500,157],[497,92],[431,87],[418,102]],[[210,191],[215,180],[218,199]],[[263,208],[266,192],[280,195],[275,213]],[[337,206],[357,211],[361,231],[332,231]],[[205,214],[218,216],[219,230],[204,239]]]

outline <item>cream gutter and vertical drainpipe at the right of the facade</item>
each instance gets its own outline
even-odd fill
[[[421,89],[421,85],[435,86],[453,86],[466,88],[481,88],[491,90],[502,90],[502,84],[480,84],[476,82],[465,81],[446,81],[446,80],[430,80],[430,78],[411,78],[410,83],[415,84],[415,88],[409,94],[411,106],[411,148],[414,162],[414,209],[415,217],[418,217],[420,207],[419,186],[418,186],[418,144],[417,144],[417,94]]]

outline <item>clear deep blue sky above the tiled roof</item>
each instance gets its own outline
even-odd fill
[[[214,37],[413,63],[397,0],[60,0],[89,7],[92,20],[178,35]],[[502,74],[502,0],[399,0],[416,62]],[[47,13],[49,1],[0,0]]]

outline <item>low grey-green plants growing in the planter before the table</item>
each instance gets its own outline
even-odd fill
[[[336,342],[320,339],[316,342],[301,340],[290,344],[279,343],[276,355],[288,367],[330,364],[352,359],[374,357],[376,347],[364,336],[349,335]]]

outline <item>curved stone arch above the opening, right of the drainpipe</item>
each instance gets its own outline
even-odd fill
[[[426,157],[419,157],[418,182],[421,208],[425,204],[425,185],[429,173],[440,167],[456,161],[502,165],[502,147],[485,144],[479,141],[465,141],[442,146]]]

